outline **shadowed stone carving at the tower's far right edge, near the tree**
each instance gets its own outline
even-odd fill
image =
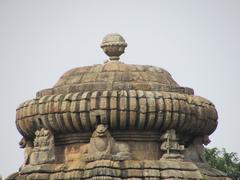
[[[194,138],[192,143],[185,150],[184,159],[193,162],[207,163],[205,158],[205,147],[203,145],[208,145],[210,142],[207,135]]]

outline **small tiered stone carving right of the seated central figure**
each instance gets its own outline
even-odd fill
[[[174,129],[167,130],[167,132],[161,136],[161,141],[161,150],[164,152],[162,158],[183,159],[184,146],[179,145]]]

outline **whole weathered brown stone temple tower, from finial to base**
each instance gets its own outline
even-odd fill
[[[17,108],[24,162],[8,179],[228,179],[204,155],[214,105],[162,68],[121,62],[126,47],[108,34],[107,61],[66,72]]]

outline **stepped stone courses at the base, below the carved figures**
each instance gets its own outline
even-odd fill
[[[77,164],[77,163],[75,163]],[[88,164],[38,165],[25,168],[19,179],[202,179],[200,170],[192,162],[184,161],[110,161]],[[41,173],[39,173],[41,169]],[[218,176],[220,177],[220,176]]]

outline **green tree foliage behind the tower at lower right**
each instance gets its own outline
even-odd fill
[[[228,153],[226,149],[206,149],[206,159],[210,166],[225,172],[234,180],[240,180],[240,159],[237,153]]]

